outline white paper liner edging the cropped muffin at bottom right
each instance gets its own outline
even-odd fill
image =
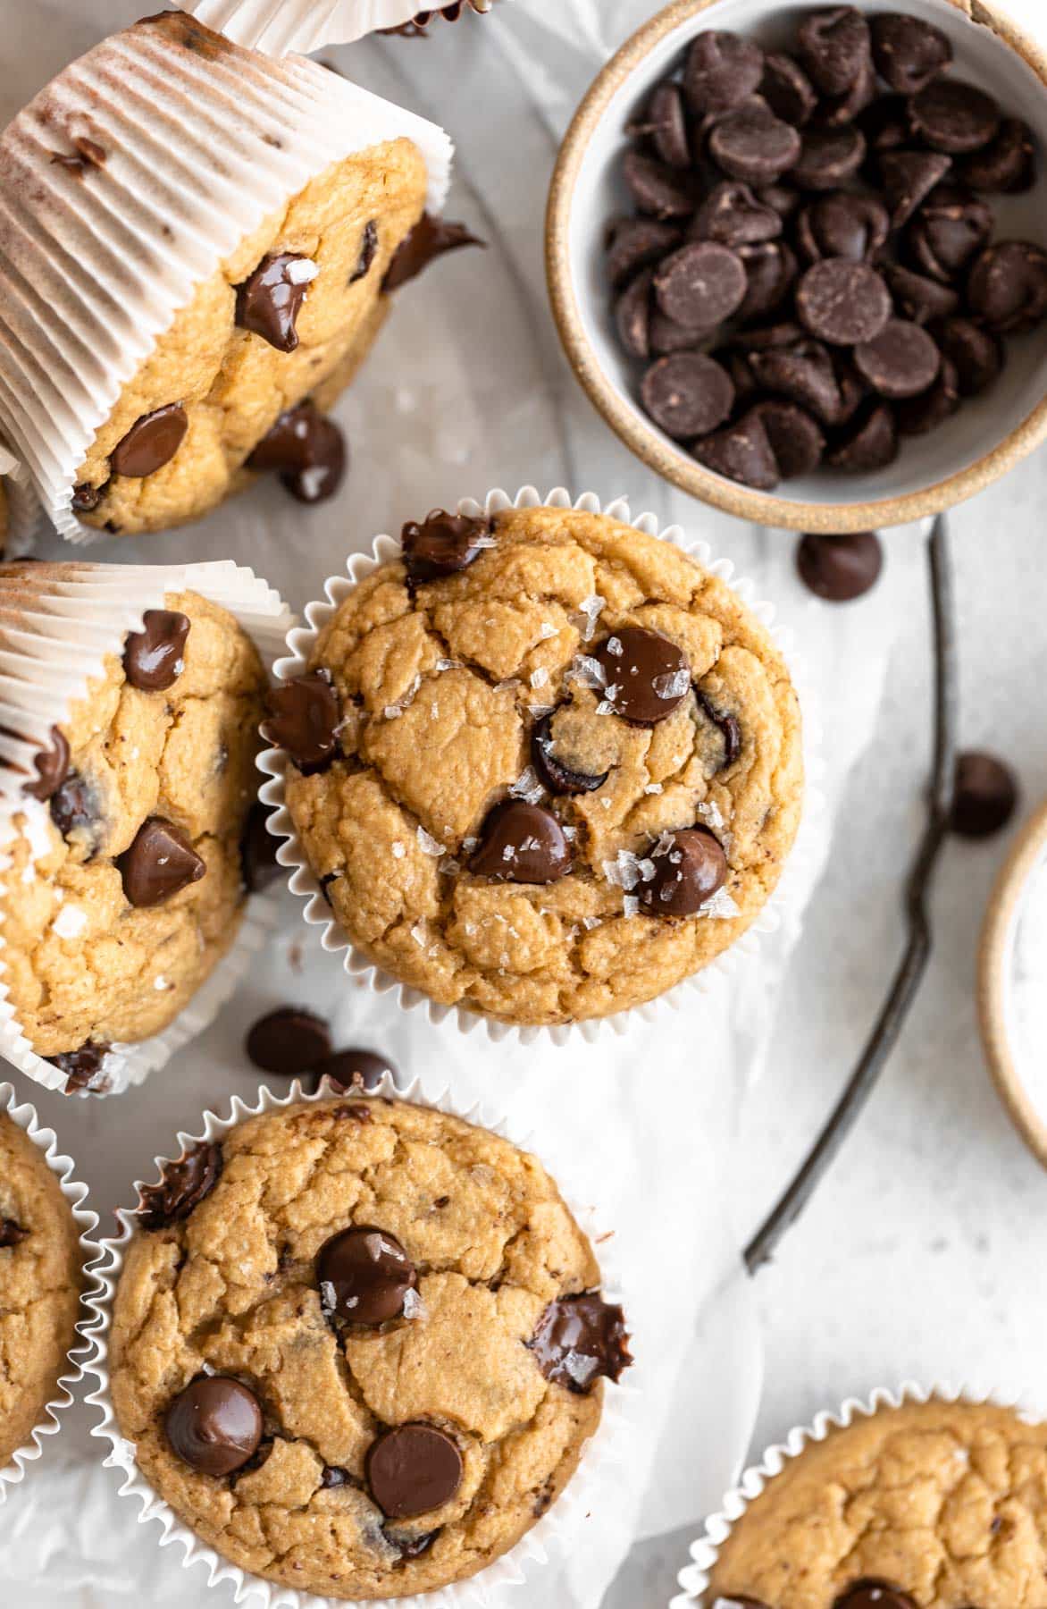
[[[825,1411],[817,1414],[812,1424],[794,1426],[785,1437],[785,1442],[775,1442],[769,1446],[759,1463],[751,1464],[738,1479],[738,1483],[724,1493],[719,1511],[706,1519],[703,1535],[690,1546],[692,1562],[677,1577],[680,1591],[671,1599],[669,1609],[692,1609],[695,1603],[701,1603],[732,1525],[741,1519],[749,1503],[761,1495],[764,1487],[775,1475],[780,1475],[785,1466],[793,1458],[798,1458],[806,1446],[812,1442],[823,1442],[830,1430],[844,1430],[856,1419],[870,1419],[883,1409],[902,1408],[905,1403],[925,1405],[930,1401],[963,1401],[975,1406],[992,1403],[996,1408],[1013,1408],[1029,1424],[1039,1422],[1044,1418],[1042,1406],[1036,1408],[1023,1395],[978,1384],[949,1385],[936,1382],[933,1385],[918,1385],[914,1381],[905,1381],[897,1389],[878,1385],[865,1400],[848,1397],[835,1413]]]

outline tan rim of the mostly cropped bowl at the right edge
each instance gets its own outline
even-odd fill
[[[1047,800],[1033,813],[1012,846],[989,896],[978,943],[978,1027],[1000,1101],[1026,1146],[1047,1168],[1047,1121],[1026,1093],[1007,1033],[1007,959],[1018,903],[1029,874],[1047,850]]]

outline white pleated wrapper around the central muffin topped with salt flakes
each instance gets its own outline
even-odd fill
[[[573,497],[565,488],[556,488],[548,492],[548,496],[542,497],[534,486],[524,486],[515,497],[510,497],[500,489],[487,492],[482,502],[465,497],[458,504],[458,513],[478,516],[482,513],[503,513],[507,508],[540,507],[579,508],[585,513],[606,515],[611,520],[621,520],[624,525],[632,525],[637,531],[643,531],[645,536],[656,536],[663,542],[672,542],[675,547],[680,547],[698,565],[724,581],[740,602],[743,602],[756,615],[761,624],[769,631],[778,652],[788,660],[793,685],[803,684],[803,666],[794,650],[793,634],[780,626],[775,626],[774,605],[756,600],[754,582],[735,576],[735,568],[730,560],[712,558],[709,545],[688,537],[682,526],[671,525],[661,529],[658,518],[653,513],[643,513],[634,518],[624,497],[603,504],[595,492],[582,492],[581,497]],[[335,615],[338,607],[354,591],[354,587],[365,579],[365,576],[372,574],[378,565],[399,558],[400,552],[402,544],[399,537],[376,536],[370,553],[349,555],[346,560],[346,574],[328,576],[325,582],[326,602],[306,605],[304,613],[307,624],[296,626],[288,634],[288,648],[291,653],[288,658],[278,660],[273,668],[278,681],[291,681],[306,671],[317,637],[330,621],[331,615]],[[809,708],[806,698],[801,700],[801,706],[804,711]],[[595,1043],[602,1035],[626,1033],[629,1025],[635,1022],[637,1017],[643,1022],[655,1022],[659,1012],[666,1009],[679,1010],[687,1001],[693,1001],[696,996],[704,996],[706,1004],[709,1004],[722,994],[724,980],[733,972],[741,959],[751,957],[756,953],[764,935],[778,932],[782,920],[786,916],[798,920],[803,904],[803,890],[811,882],[812,867],[817,866],[819,861],[817,821],[825,811],[825,796],[820,788],[820,732],[817,721],[809,721],[806,713],[803,742],[806,788],[801,825],[793,842],[786,866],[783,867],[778,887],[745,933],[700,972],[684,978],[674,988],[659,994],[653,1001],[647,1001],[642,1006],[634,1006],[629,1010],[616,1012],[608,1017],[593,1017],[585,1022],[556,1025],[518,1025],[502,1022],[500,1018],[489,1017],[465,1006],[441,1006],[421,990],[402,983],[383,967],[368,961],[368,957],[352,944],[341,922],[333,914],[331,906],[323,896],[320,882],[309,864],[309,856],[306,854],[306,848],[296,832],[291,813],[286,806],[288,758],[280,748],[267,748],[259,755],[257,763],[261,769],[272,779],[262,787],[259,798],[265,804],[272,806],[272,813],[267,819],[269,830],[286,840],[277,851],[277,859],[281,866],[293,869],[289,887],[293,893],[306,899],[306,922],[310,927],[320,928],[320,941],[326,951],[344,951],[346,972],[359,983],[368,986],[376,994],[394,993],[397,1004],[404,1010],[413,1010],[420,1006],[425,1007],[428,1010],[429,1022],[441,1023],[449,1017],[454,1017],[458,1030],[466,1035],[474,1033],[482,1027],[482,1030],[486,1030],[489,1038],[495,1043],[513,1036],[523,1044],[532,1044],[536,1039],[545,1039],[563,1046],[571,1043],[576,1035],[581,1035],[587,1043]],[[703,917],[703,920],[716,920],[716,917],[709,916]]]

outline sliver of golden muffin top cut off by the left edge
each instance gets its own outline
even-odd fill
[[[0,1113],[0,1464],[55,1397],[79,1303],[72,1208],[40,1149]]]

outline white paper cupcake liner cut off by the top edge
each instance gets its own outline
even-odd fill
[[[187,0],[183,10],[238,45],[285,56],[325,45],[351,45],[383,27],[402,27],[420,13],[491,11],[494,0]]]

